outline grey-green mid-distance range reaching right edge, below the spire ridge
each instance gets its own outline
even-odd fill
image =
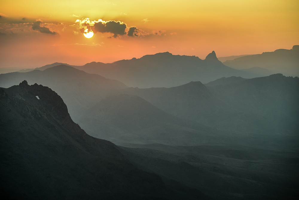
[[[297,77],[230,77],[207,86],[190,82],[172,88],[126,88],[118,93],[140,96],[174,116],[222,130],[294,132],[299,128]]]

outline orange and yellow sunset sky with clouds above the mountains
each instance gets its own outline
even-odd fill
[[[299,45],[298,24],[298,0],[1,0],[0,67],[259,54]]]

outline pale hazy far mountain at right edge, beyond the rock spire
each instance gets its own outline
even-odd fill
[[[273,52],[242,56],[234,60],[227,60],[223,64],[234,69],[260,67],[274,73],[282,73],[285,76],[299,76],[298,46],[293,46],[291,50],[277,49]]]

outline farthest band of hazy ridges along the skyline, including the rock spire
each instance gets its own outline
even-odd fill
[[[190,81],[208,83],[222,77],[240,76],[256,78],[282,73],[299,75],[299,48],[277,49],[254,55],[217,58],[213,51],[201,60],[195,56],[173,55],[169,52],[145,55],[139,59],[119,60],[113,63],[91,62],[83,66],[72,66],[87,73],[98,74],[123,82],[129,87],[175,87]],[[221,63],[221,62],[222,63]],[[45,70],[53,66],[68,65],[53,63],[35,69]],[[33,71],[24,69],[19,72]]]

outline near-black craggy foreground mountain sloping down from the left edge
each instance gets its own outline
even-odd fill
[[[0,189],[10,199],[203,199],[132,164],[75,124],[42,85],[0,88]]]

